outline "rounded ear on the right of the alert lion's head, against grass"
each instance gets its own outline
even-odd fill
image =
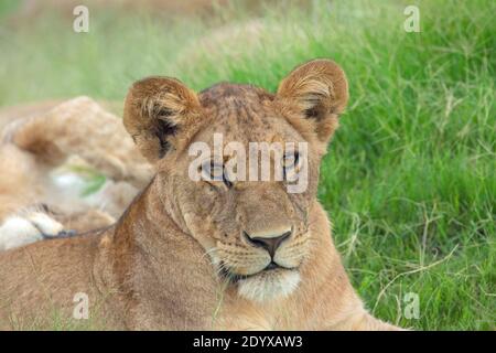
[[[295,67],[280,83],[277,96],[312,121],[319,140],[327,142],[348,101],[348,83],[336,63],[314,60]]]

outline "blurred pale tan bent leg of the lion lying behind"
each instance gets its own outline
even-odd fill
[[[107,176],[139,189],[152,175],[150,164],[136,149],[121,120],[87,97],[11,124],[3,133],[6,140],[53,165],[77,154]]]

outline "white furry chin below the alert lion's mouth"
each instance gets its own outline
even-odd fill
[[[238,295],[242,298],[265,302],[291,295],[300,284],[298,270],[278,269],[262,271],[238,281]]]

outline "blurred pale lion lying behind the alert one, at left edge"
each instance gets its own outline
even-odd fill
[[[0,182],[0,250],[111,225],[152,175],[120,119],[87,97],[3,109],[0,128],[0,167],[8,171]],[[54,173],[66,160],[103,170],[111,181],[80,201],[75,173]]]

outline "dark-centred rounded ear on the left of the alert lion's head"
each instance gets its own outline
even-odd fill
[[[153,163],[173,147],[174,135],[197,116],[198,110],[196,94],[180,81],[148,77],[129,89],[123,125],[141,153]]]

